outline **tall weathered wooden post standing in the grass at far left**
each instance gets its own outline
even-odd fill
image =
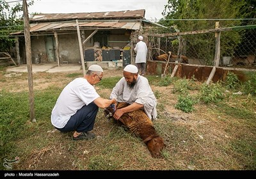
[[[31,40],[30,40],[30,27],[28,18],[28,6],[26,0],[23,0],[23,15],[24,15],[24,36],[26,46],[26,59],[28,68],[28,89],[29,89],[29,112],[30,120],[36,121],[35,119],[35,104],[34,104],[34,91],[33,91],[33,72],[32,72],[32,61],[31,61]]]

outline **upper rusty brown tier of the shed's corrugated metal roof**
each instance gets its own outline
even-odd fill
[[[29,19],[30,22],[52,22],[62,20],[89,19],[144,19],[145,10],[126,10],[120,12],[92,12],[92,13],[40,13]]]

